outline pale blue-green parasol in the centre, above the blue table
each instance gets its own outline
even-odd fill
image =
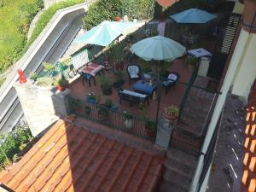
[[[183,56],[186,48],[171,38],[154,36],[144,38],[133,44],[131,46],[131,52],[143,58],[145,61],[172,61]]]

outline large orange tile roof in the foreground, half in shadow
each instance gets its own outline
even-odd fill
[[[0,174],[19,191],[155,191],[163,157],[59,120]]]

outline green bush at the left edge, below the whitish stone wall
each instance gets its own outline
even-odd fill
[[[15,131],[9,132],[7,136],[1,137],[0,145],[0,170],[10,161],[14,161],[15,154],[20,153],[26,144],[32,141],[32,134],[28,126],[17,126]]]

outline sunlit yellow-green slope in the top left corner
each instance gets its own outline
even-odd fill
[[[0,73],[16,61],[26,44],[32,18],[43,0],[4,0],[0,6]]]

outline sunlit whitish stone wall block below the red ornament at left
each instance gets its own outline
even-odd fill
[[[31,80],[26,84],[16,83],[15,90],[33,137],[68,113],[69,90],[59,92],[54,86],[38,87]]]

